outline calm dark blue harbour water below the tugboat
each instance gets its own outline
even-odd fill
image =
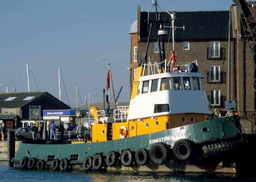
[[[0,181],[241,181],[254,177],[238,177],[234,174],[176,174],[154,172],[84,172],[84,171],[29,171],[14,170],[8,162],[0,162]]]

